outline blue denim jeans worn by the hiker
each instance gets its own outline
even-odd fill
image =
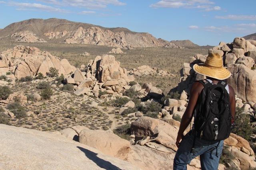
[[[200,155],[202,170],[218,170],[223,141],[205,141],[196,138],[195,154],[190,153],[194,141],[194,130],[189,131],[182,139],[173,162],[174,170],[186,170],[187,164]],[[219,145],[218,145],[219,143]],[[218,147],[217,147],[218,146]],[[216,156],[217,155],[217,156]]]

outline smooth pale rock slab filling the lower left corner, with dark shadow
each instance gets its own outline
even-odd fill
[[[62,135],[4,124],[0,124],[0,148],[4,170],[141,170]]]

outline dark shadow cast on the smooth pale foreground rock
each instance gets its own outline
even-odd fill
[[[101,158],[98,158],[97,153],[94,153],[88,149],[84,149],[82,147],[77,147],[82,152],[84,152],[85,156],[95,162],[100,168],[106,169],[106,170],[122,170],[118,168],[117,166],[111,164],[110,162],[103,160]]]

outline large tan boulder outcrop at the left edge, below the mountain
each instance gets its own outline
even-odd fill
[[[0,74],[6,75],[6,72],[14,74],[9,79],[22,78],[25,76],[37,76],[42,73],[46,76],[49,69],[56,68],[60,74],[69,74],[74,72],[76,68],[66,59],[60,60],[52,56],[47,51],[40,51],[36,47],[15,46],[0,53]],[[14,77],[13,77],[14,75]]]

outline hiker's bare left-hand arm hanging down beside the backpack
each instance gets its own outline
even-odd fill
[[[180,128],[178,131],[177,139],[176,139],[176,146],[180,146],[180,140],[184,137],[183,132],[188,127],[189,123],[192,120],[194,108],[196,106],[196,102],[198,99],[198,96],[200,95],[202,89],[204,86],[200,82],[194,82],[190,89],[190,98],[188,101],[188,106],[186,108],[185,113],[182,116],[181,122],[180,122]]]

